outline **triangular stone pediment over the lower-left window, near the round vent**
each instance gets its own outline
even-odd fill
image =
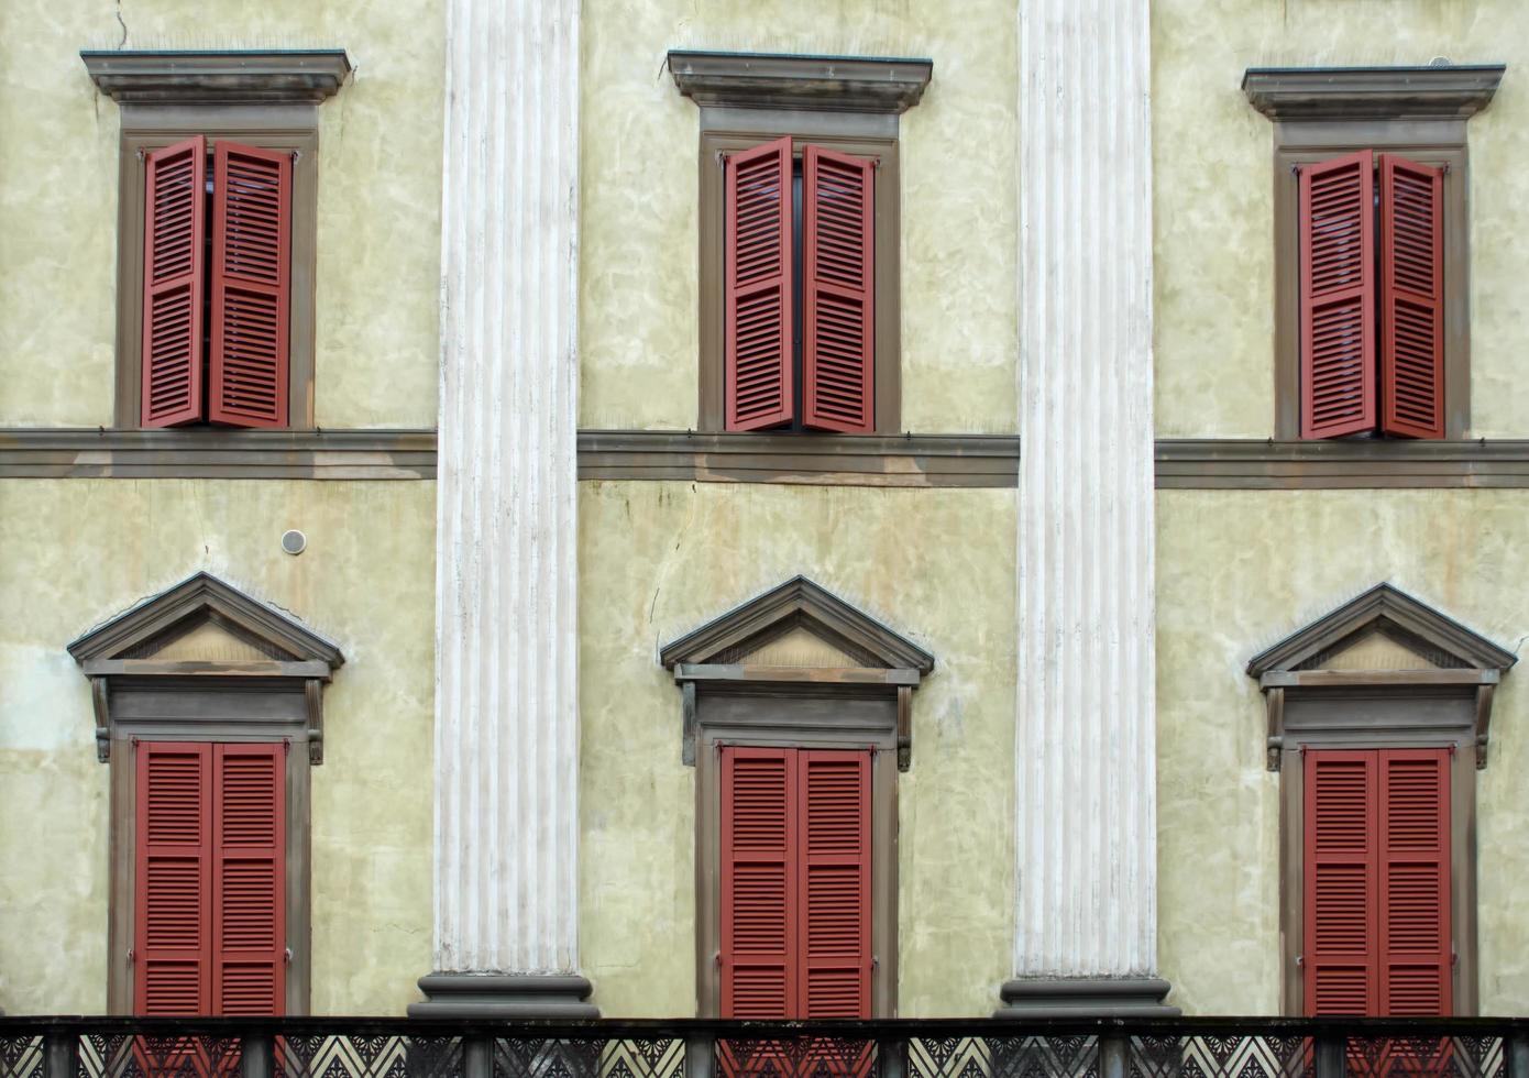
[[[339,648],[291,615],[197,573],[69,645],[76,662],[344,662]]]

